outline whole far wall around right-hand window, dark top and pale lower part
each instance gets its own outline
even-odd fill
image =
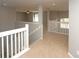
[[[48,31],[69,34],[69,29],[60,28],[61,18],[69,18],[68,11],[49,11]],[[55,21],[55,22],[54,22]]]

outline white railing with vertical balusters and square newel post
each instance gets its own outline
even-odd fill
[[[0,57],[19,57],[29,49],[29,27],[14,29],[0,33]]]

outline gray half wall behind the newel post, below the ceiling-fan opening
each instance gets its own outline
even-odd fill
[[[36,40],[40,39],[41,37],[41,28],[39,28],[39,23],[33,22],[16,22],[16,29],[25,27],[25,24],[29,24],[29,43],[30,45],[36,42]],[[38,29],[38,30],[36,30]],[[36,31],[35,31],[36,30]]]

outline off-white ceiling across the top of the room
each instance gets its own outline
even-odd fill
[[[44,10],[68,10],[69,0],[3,0],[9,1],[9,5],[16,4],[18,9],[36,10],[41,5]],[[56,4],[53,6],[53,3]]]

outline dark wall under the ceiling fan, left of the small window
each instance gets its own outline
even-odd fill
[[[17,12],[16,19],[18,21],[33,22],[33,13],[30,12],[29,14],[27,14],[25,12]]]

